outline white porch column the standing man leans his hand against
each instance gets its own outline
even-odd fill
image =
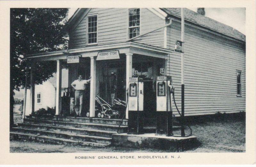
[[[96,58],[91,57],[90,117],[95,117]]]

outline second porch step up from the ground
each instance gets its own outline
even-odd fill
[[[111,139],[112,139],[108,137],[90,136],[90,135],[77,134],[77,133],[71,133],[71,132],[58,132],[58,131],[49,131],[49,130],[45,131],[45,130],[29,129],[29,128],[21,128],[21,127],[12,128],[12,132],[45,135],[45,136],[62,138],[62,139],[89,141],[89,142],[105,143],[105,144],[111,144]]]

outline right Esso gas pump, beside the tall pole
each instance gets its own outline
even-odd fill
[[[172,136],[172,77],[157,76],[156,135]]]

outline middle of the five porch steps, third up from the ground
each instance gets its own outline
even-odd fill
[[[57,132],[70,132],[77,134],[85,134],[90,136],[102,136],[112,138],[112,134],[116,133],[113,131],[105,131],[98,129],[84,129],[84,128],[75,128],[75,127],[67,127],[67,126],[54,126],[54,125],[38,125],[38,124],[27,124],[27,123],[19,123],[19,127],[22,128],[30,128],[30,129],[41,129],[41,130],[49,130],[49,131],[57,131]]]

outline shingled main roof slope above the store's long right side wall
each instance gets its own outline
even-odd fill
[[[166,12],[168,15],[181,18],[181,8],[160,8],[160,9]],[[209,17],[203,16],[187,8],[185,8],[184,11],[185,11],[184,13],[185,20],[192,22],[196,25],[205,27],[207,29],[210,29],[212,31],[216,31],[220,34],[224,34],[229,37],[245,42],[245,35],[237,31],[233,27],[220,23]]]

